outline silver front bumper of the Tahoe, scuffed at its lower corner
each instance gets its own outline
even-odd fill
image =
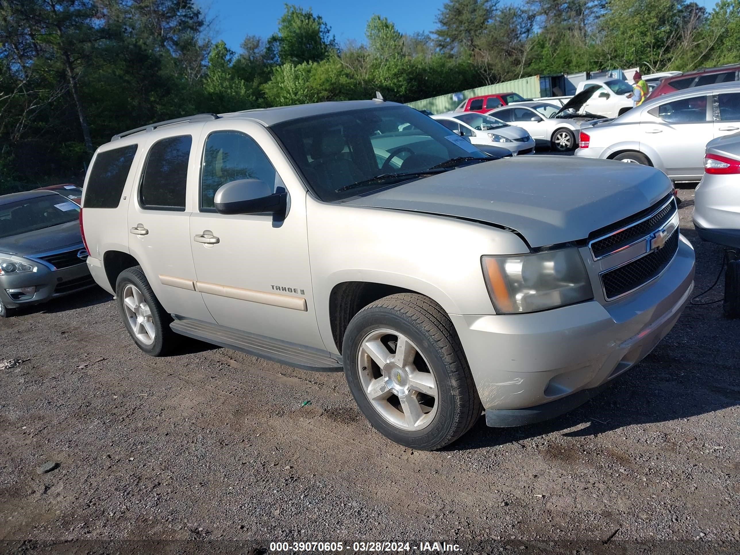
[[[547,420],[584,403],[670,332],[693,274],[693,248],[681,238],[662,275],[620,300],[534,314],[452,314],[488,425]]]

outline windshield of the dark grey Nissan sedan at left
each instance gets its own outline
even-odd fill
[[[0,204],[0,238],[58,226],[79,217],[80,207],[56,194]]]

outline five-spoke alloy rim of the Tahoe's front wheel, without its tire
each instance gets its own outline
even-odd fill
[[[405,335],[377,329],[360,343],[357,368],[375,410],[403,430],[425,428],[437,414],[437,380],[424,355]]]

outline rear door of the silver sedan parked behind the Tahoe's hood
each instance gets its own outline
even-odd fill
[[[714,136],[710,95],[667,100],[649,110],[640,124],[640,144],[660,156],[665,172],[679,180],[704,173],[704,146]]]

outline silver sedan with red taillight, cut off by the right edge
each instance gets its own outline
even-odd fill
[[[704,146],[740,130],[740,84],[694,87],[645,101],[580,133],[576,156],[655,166],[673,181],[699,181]]]

